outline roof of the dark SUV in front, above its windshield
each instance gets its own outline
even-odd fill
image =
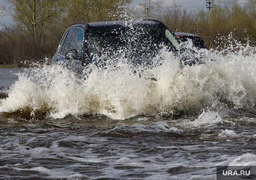
[[[79,27],[79,26],[87,26],[89,29],[99,29],[99,28],[110,28],[110,27],[118,27],[118,26],[126,26],[130,24],[136,24],[136,25],[161,25],[164,26],[164,24],[157,20],[143,20],[143,21],[106,21],[106,22],[96,22],[96,23],[75,23],[71,25],[70,27]]]

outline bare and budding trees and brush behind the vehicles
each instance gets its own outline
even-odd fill
[[[22,64],[51,58],[71,24],[76,22],[146,19],[148,0],[133,7],[132,0],[8,0],[1,6],[15,22],[0,30],[0,64]],[[150,18],[162,21],[171,30],[199,35],[209,48],[221,49],[230,37],[256,44],[256,0],[214,1],[210,12],[163,1],[151,0]]]

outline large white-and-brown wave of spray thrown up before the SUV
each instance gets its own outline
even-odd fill
[[[63,66],[31,68],[18,74],[19,80],[0,102],[0,112],[52,118],[104,114],[112,119],[200,114],[205,108],[222,114],[236,109],[254,113],[254,47],[194,51],[204,55],[204,63],[181,67],[180,58],[163,48],[152,68],[131,68],[125,58],[118,64],[108,60],[104,68],[87,68],[92,71],[85,79]]]

